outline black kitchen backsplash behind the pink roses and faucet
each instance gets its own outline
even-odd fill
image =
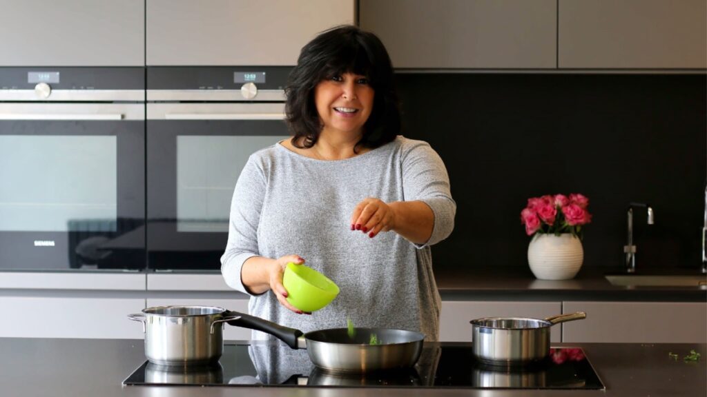
[[[582,193],[585,266],[623,266],[626,208],[636,268],[699,269],[707,180],[707,78],[669,74],[399,73],[404,134],[450,173],[455,231],[437,268],[527,266],[527,198]]]

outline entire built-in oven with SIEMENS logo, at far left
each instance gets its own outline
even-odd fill
[[[145,267],[144,68],[0,68],[0,269]]]

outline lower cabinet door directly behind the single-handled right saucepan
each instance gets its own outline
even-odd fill
[[[456,302],[443,301],[440,314],[440,340],[443,342],[471,342],[472,325],[469,321],[484,317],[545,317],[561,314],[561,302]],[[550,341],[560,342],[561,326],[550,331]]]

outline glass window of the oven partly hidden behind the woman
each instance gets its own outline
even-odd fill
[[[287,136],[177,136],[177,232],[228,232],[238,175],[253,152]]]

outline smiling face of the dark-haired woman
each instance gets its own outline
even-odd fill
[[[366,76],[344,73],[320,81],[314,90],[317,112],[327,133],[363,134],[373,110],[373,88]]]

